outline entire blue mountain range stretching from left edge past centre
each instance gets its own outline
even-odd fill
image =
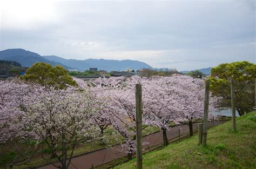
[[[134,70],[143,68],[153,69],[150,65],[139,62],[138,60],[64,59],[58,56],[41,56],[38,53],[24,49],[7,49],[0,51],[0,60],[13,60],[21,63],[23,67],[29,67],[36,62],[46,62],[53,66],[62,65],[65,69],[76,69],[79,71],[89,70],[90,67],[106,71],[123,71],[127,68]]]

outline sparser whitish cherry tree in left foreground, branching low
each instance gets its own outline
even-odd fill
[[[26,98],[31,100],[31,98]],[[68,168],[75,146],[86,139],[99,137],[98,127],[93,125],[95,100],[89,92],[79,92],[74,87],[65,90],[43,91],[33,98],[33,103],[22,103],[24,116],[21,123],[25,136],[44,142],[52,156],[60,162],[58,168]],[[61,142],[62,152],[57,153],[57,144]],[[70,153],[68,154],[68,150]],[[43,155],[43,154],[42,154]],[[42,156],[51,163],[47,158]]]

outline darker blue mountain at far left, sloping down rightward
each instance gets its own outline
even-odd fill
[[[38,53],[26,51],[24,49],[7,49],[0,51],[0,60],[12,60],[21,63],[23,67],[29,67],[36,62],[49,63],[52,66],[62,65],[65,69],[72,69],[72,67],[66,66],[59,62],[54,62],[40,56]]]

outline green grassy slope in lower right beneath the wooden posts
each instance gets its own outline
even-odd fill
[[[143,156],[143,168],[256,168],[256,112],[208,130],[207,146],[194,136]],[[136,159],[116,168],[135,168]]]

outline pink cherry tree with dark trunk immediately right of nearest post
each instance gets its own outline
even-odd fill
[[[184,121],[180,113],[184,109],[181,104],[184,98],[179,95],[184,91],[174,85],[173,80],[175,79],[153,76],[149,83],[143,85],[143,92],[146,93],[143,98],[146,124],[159,127],[163,133],[164,146],[168,145],[166,131],[170,129],[170,123],[179,124]]]

